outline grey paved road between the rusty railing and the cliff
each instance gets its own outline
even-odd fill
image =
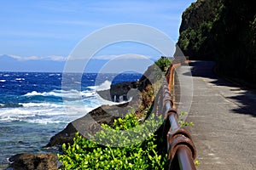
[[[215,77],[213,62],[189,65],[194,87],[187,121],[195,123],[189,131],[200,162],[197,169],[256,169],[256,94]]]

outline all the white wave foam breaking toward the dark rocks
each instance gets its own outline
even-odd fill
[[[0,122],[22,121],[30,123],[68,123],[86,115],[100,105],[117,103],[102,99],[96,90],[110,88],[111,82],[103,82],[98,87],[79,92],[78,90],[53,90],[39,93],[32,91],[24,96],[58,96],[64,97],[64,103],[20,103],[23,107],[1,108]]]

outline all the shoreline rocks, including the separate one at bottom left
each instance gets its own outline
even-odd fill
[[[44,148],[59,147],[62,144],[73,144],[75,133],[79,131],[85,138],[89,139],[88,134],[96,133],[101,124],[111,125],[114,119],[124,117],[127,111],[132,108],[137,109],[141,104],[141,95],[138,88],[143,89],[147,83],[146,79],[138,82],[121,82],[111,86],[111,89],[97,92],[103,99],[112,100],[111,95],[126,95],[130,101],[123,102],[118,105],[102,105],[85,116],[74,120],[67,124],[60,133],[56,133],[49,139],[49,143]],[[125,88],[123,88],[125,87]],[[116,97],[115,97],[116,98]],[[53,153],[34,155],[32,153],[17,154],[9,158],[9,167],[6,170],[55,170],[58,169],[58,158]],[[59,165],[60,166],[60,165]]]

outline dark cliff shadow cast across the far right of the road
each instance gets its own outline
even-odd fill
[[[238,105],[239,109],[231,110],[237,114],[256,116],[256,93],[252,89],[242,87],[236,82],[228,81],[214,74],[215,62],[213,61],[191,61],[191,73],[193,77],[206,78],[207,82],[212,83],[217,89],[221,89],[224,98]],[[183,75],[189,76],[189,73]],[[220,87],[220,88],[218,88]],[[226,88],[225,88],[226,87]]]

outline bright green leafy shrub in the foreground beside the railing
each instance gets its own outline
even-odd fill
[[[166,154],[158,153],[154,136],[161,121],[155,120],[153,115],[139,124],[130,113],[115,120],[112,127],[102,125],[102,131],[91,140],[77,133],[73,145],[63,144],[65,154],[58,155],[63,169],[164,169]]]

